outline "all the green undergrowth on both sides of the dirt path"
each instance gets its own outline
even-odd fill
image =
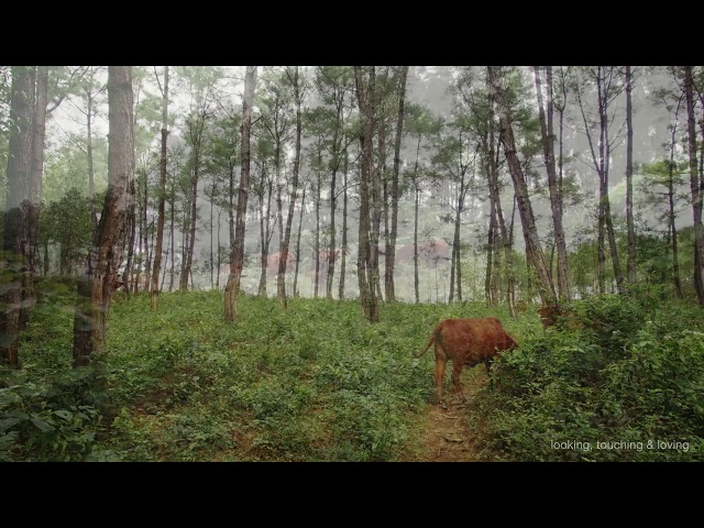
[[[81,369],[69,292],[34,309],[22,369],[0,367],[0,461],[417,460],[433,354],[411,354],[440,320],[486,316],[520,346],[493,387],[465,374],[482,460],[703,459],[704,315],[647,289],[574,302],[548,331],[535,306],[382,305],[370,324],[352,300],[243,296],[229,324],[221,293],[162,294],[155,312],[140,295]]]

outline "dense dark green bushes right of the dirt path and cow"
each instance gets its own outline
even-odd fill
[[[704,460],[704,312],[647,292],[574,302],[479,395],[486,460]]]

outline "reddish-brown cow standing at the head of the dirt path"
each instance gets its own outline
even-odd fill
[[[458,396],[465,402],[462,394],[460,375],[464,365],[476,366],[484,362],[486,373],[495,355],[510,350],[518,344],[502,327],[495,317],[483,319],[446,319],[432,331],[425,349],[414,355],[420,358],[430,345],[436,344],[436,391],[438,402],[444,407],[442,399],[442,380],[448,360],[452,361],[452,382]]]

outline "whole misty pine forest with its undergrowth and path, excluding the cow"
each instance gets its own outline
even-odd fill
[[[704,461],[702,66],[0,66],[0,170],[1,462]]]

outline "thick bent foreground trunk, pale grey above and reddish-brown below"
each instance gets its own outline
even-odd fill
[[[78,286],[74,319],[74,366],[87,365],[106,342],[110,299],[122,261],[134,178],[132,72],[109,66],[108,193],[87,264]]]

